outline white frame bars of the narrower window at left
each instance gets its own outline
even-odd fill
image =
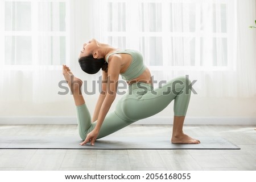
[[[38,37],[42,35],[42,31],[38,29],[38,3],[41,1],[33,0],[5,0],[0,1],[0,23],[5,24],[5,3],[6,2],[30,2],[31,3],[31,31],[6,31],[5,26],[0,27],[0,69],[1,70],[35,70],[43,68],[47,70],[60,70],[61,65],[38,65],[32,61],[30,65],[6,65],[5,64],[5,36],[31,36],[31,57],[32,60],[38,59]],[[44,31],[46,36],[64,36],[65,37],[65,64],[70,64],[70,0],[48,0],[47,2],[64,2],[65,3],[65,31]]]

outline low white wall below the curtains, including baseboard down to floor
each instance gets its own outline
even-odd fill
[[[96,95],[85,96],[91,113],[93,113],[96,99]],[[8,103],[6,107],[1,109],[0,124],[75,124],[76,109],[72,96],[65,95],[63,100],[58,103],[41,103],[38,105],[26,102]],[[112,105],[112,109],[114,109],[117,100]],[[186,123],[255,125],[255,103],[256,96],[251,98],[200,98],[200,96],[192,95]],[[173,103],[159,114],[139,123],[172,124],[172,117]]]

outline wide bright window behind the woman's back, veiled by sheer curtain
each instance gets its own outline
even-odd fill
[[[140,50],[152,70],[234,69],[234,1],[100,3],[100,16],[105,17],[101,30],[108,43]]]

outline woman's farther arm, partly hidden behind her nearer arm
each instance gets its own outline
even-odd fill
[[[98,114],[100,113],[101,105],[104,99],[106,98],[107,79],[108,79],[108,73],[106,73],[105,71],[102,71],[101,93],[100,93],[100,96],[98,97],[98,101],[94,109],[92,122],[98,119]]]

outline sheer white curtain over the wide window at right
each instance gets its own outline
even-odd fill
[[[94,37],[140,50],[158,82],[189,75],[199,96],[256,93],[255,1],[97,0],[92,9]]]

